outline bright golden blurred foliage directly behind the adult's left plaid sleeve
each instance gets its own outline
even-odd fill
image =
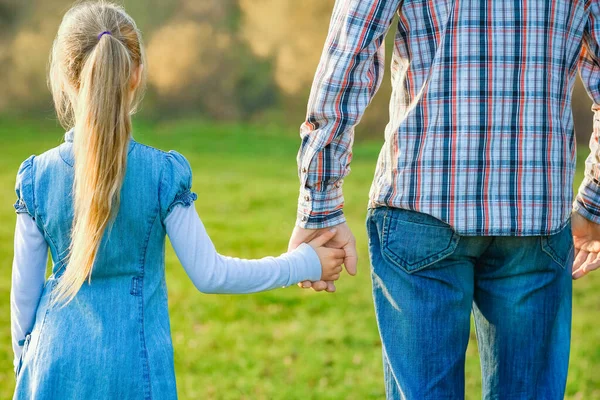
[[[239,0],[241,32],[253,53],[271,60],[273,78],[283,94],[287,120],[301,122],[312,80],[323,50],[333,0]],[[387,38],[387,59],[393,35]],[[389,73],[357,130],[357,137],[383,137],[389,117]]]

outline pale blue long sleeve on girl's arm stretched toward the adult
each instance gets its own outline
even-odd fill
[[[242,260],[219,254],[195,207],[175,206],[167,235],[186,273],[203,293],[254,293],[321,279],[321,263],[308,244],[279,257]]]

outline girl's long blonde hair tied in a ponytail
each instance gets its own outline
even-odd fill
[[[48,81],[61,124],[74,128],[74,219],[55,302],[66,305],[91,281],[104,231],[118,212],[131,114],[145,86],[143,64],[140,32],[121,7],[84,2],[65,14]]]

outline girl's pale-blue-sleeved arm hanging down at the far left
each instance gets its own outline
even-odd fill
[[[17,214],[14,250],[10,321],[14,367],[17,368],[25,336],[33,329],[48,261],[48,245],[44,235],[27,213]]]

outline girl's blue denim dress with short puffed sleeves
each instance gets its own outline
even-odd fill
[[[14,399],[175,399],[165,225],[177,204],[196,200],[179,153],[129,143],[121,204],[92,272],[65,307],[53,289],[65,268],[73,223],[73,134],[25,160],[15,205],[49,245],[52,274],[17,367]]]

